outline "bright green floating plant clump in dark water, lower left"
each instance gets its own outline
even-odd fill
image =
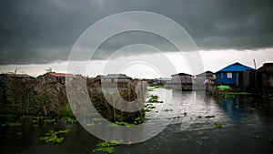
[[[46,143],[49,143],[49,142],[62,143],[65,138],[60,137],[61,134],[66,134],[70,131],[71,129],[65,129],[65,130],[59,130],[59,131],[50,130],[48,133],[45,133],[45,137],[41,137],[40,140],[43,140]]]

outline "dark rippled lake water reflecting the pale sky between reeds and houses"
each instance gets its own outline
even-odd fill
[[[273,153],[273,98],[253,96],[212,97],[197,92],[158,88],[164,103],[154,103],[147,120],[170,121],[152,139],[131,145],[119,145],[114,153]],[[207,116],[207,118],[206,118]],[[74,154],[93,153],[101,142],[79,123],[61,119],[56,124],[43,121],[34,127],[31,118],[1,118],[20,121],[22,126],[0,127],[1,154]],[[216,128],[219,123],[223,128]],[[153,127],[153,126],[149,126]],[[40,140],[51,129],[71,129],[61,144]]]

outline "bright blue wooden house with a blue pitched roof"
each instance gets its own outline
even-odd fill
[[[238,86],[239,75],[247,70],[254,70],[251,67],[244,66],[240,63],[234,63],[224,67],[216,72],[216,84]]]

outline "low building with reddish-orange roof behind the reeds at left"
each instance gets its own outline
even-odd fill
[[[43,76],[39,76],[39,78],[43,78],[43,81],[45,82],[59,83],[59,84],[65,84],[66,77],[73,78],[75,76],[73,74],[55,73],[55,72],[48,72],[48,73],[45,73],[45,75]]]

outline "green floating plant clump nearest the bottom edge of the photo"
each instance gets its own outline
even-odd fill
[[[93,149],[93,152],[103,152],[103,153],[113,153],[116,146],[118,146],[121,143],[121,141],[118,140],[112,140],[112,141],[104,141],[101,143],[98,143],[96,146],[98,148]]]

